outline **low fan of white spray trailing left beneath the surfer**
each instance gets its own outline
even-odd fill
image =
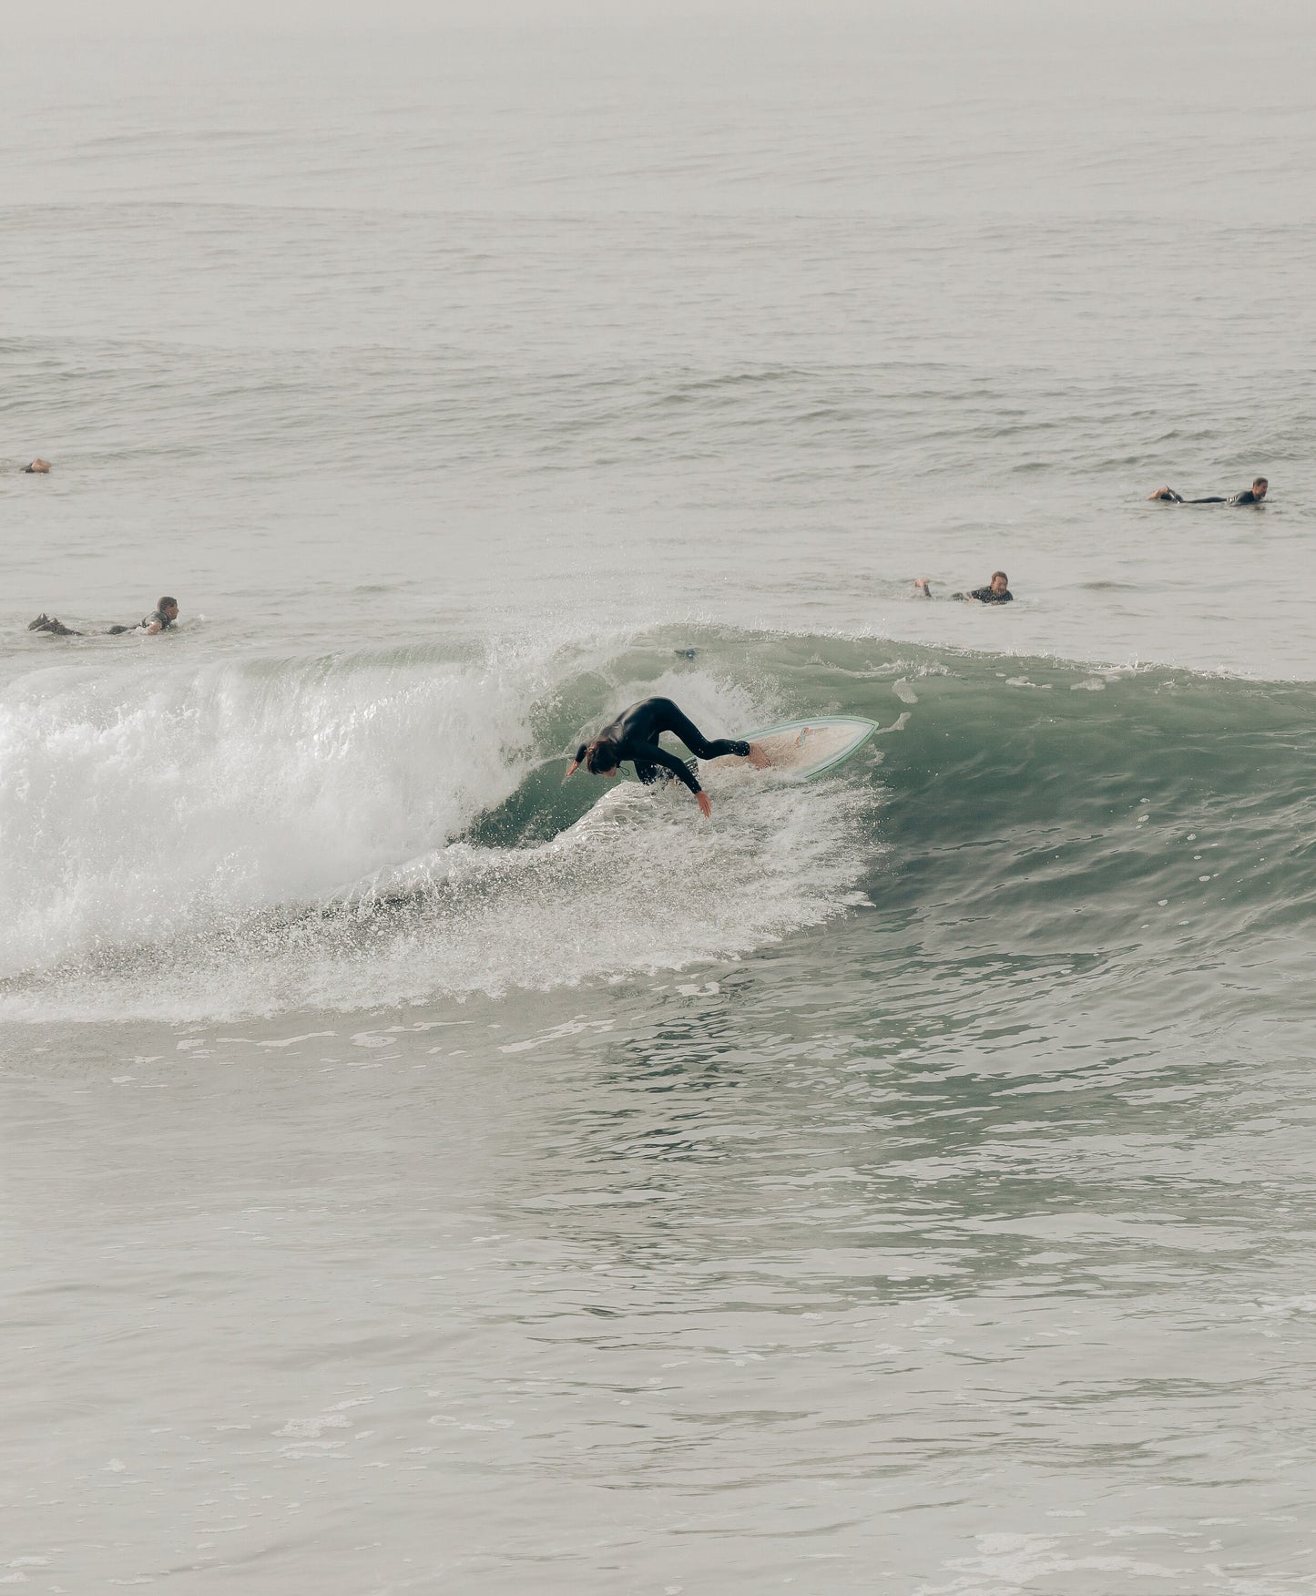
[[[14,990],[11,1017],[201,1020],[549,990],[748,953],[852,902],[868,800],[842,784],[735,784],[702,820],[684,788],[614,790],[523,849],[453,843],[292,921],[198,937]]]

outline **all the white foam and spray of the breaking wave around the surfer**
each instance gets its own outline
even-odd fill
[[[561,788],[555,758],[585,729],[581,681],[598,696],[579,664],[357,654],[29,681],[0,705],[21,907],[0,1010],[206,1018],[546,990],[739,958],[845,908],[871,790],[764,784],[719,795],[711,825],[684,790],[584,812],[598,784]],[[605,710],[680,691],[710,726],[767,712],[715,672],[614,674]],[[518,792],[525,835],[491,846],[477,822]]]

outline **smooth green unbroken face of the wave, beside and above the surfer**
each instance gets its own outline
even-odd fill
[[[662,691],[680,697],[668,642],[614,661],[613,681],[662,674]],[[1297,980],[1311,954],[1308,683],[1094,670],[881,640],[681,642],[697,645],[683,667],[692,678],[751,681],[772,696],[778,720],[828,713],[877,725],[823,785],[874,801],[861,887],[884,935],[900,929],[924,950],[975,959],[1120,961],[1134,988],[1172,983],[1156,964],[1169,959],[1192,969],[1177,998],[1196,993],[1203,1012],[1222,1001],[1230,970],[1255,975],[1265,962],[1276,982]],[[616,688],[600,697],[601,686],[589,683],[595,715],[619,702]],[[581,707],[571,693],[560,702],[568,720]],[[576,720],[569,731],[555,720],[563,741],[576,729]],[[512,808],[526,833],[546,835],[590,801],[546,782]],[[509,809],[501,820],[510,819]],[[494,817],[487,825],[501,830]]]

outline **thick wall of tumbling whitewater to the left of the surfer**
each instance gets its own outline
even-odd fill
[[[0,975],[308,902],[514,790],[526,681],[338,658],[41,672],[0,702]]]

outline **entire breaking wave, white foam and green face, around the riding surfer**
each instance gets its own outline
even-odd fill
[[[691,662],[675,646],[695,648]],[[648,693],[711,731],[887,728],[809,787],[592,809],[582,733]],[[1305,685],[877,642],[651,635],[30,674],[0,702],[0,1013],[193,1020],[617,980],[839,916],[928,940],[1297,970]],[[589,819],[582,819],[589,814]],[[874,921],[876,910],[876,921]]]

